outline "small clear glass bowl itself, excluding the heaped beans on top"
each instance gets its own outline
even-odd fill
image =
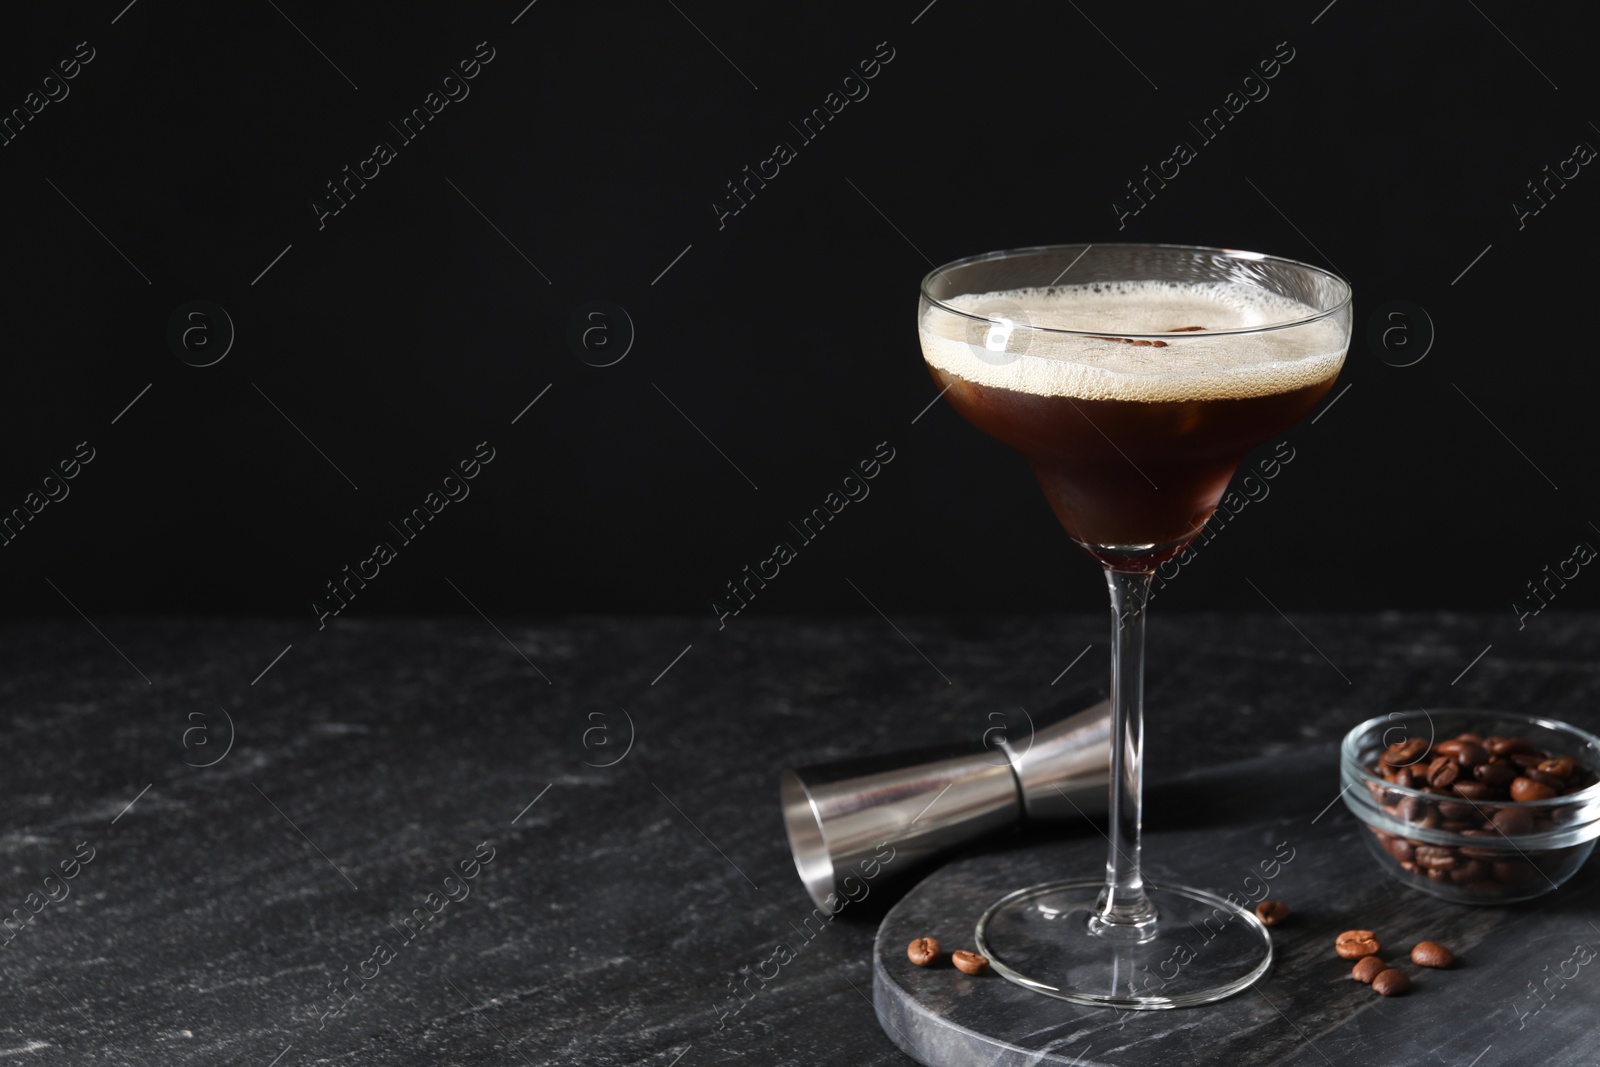
[[[1366,824],[1379,865],[1413,889],[1458,904],[1531,901],[1571,878],[1600,837],[1600,782],[1547,800],[1470,800],[1400,785],[1371,766],[1394,744],[1461,733],[1525,737],[1600,773],[1600,737],[1550,718],[1469,709],[1390,712],[1344,736],[1344,805]],[[1418,771],[1429,757],[1419,757]],[[1470,779],[1462,779],[1470,781]]]

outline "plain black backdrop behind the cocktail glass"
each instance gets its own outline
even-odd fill
[[[920,277],[1080,240],[1285,254],[1357,293],[1334,406],[1286,434],[1293,464],[1163,611],[1267,595],[1490,608],[1515,630],[1525,582],[1600,544],[1600,178],[1522,229],[1512,208],[1600,144],[1582,5],[523,3],[6,13],[0,109],[78,42],[94,59],[0,147],[0,509],[77,442],[96,458],[0,549],[5,611],[315,625],[325,582],[483,440],[470,496],[349,614],[469,597],[710,625],[722,584],[878,442],[896,459],[870,498],[752,611],[1098,609],[1022,462],[942,403],[912,422],[934,397]],[[318,229],[323,184],[478,42],[494,59],[470,96]],[[789,123],[880,42],[870,94],[800,144]],[[1187,123],[1280,42],[1270,94],[1202,144]],[[725,182],[778,141],[798,158],[718,229]],[[1198,158],[1118,229],[1125,182],[1178,141]],[[237,328],[214,366],[168,346],[192,299]],[[606,368],[568,342],[594,299],[637,328]],[[1368,341],[1390,301],[1437,331],[1411,366],[1390,362],[1390,362]],[[1554,608],[1597,603],[1584,573]]]

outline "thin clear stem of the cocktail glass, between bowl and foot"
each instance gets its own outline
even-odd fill
[[[1149,571],[1106,569],[1110,587],[1110,851],[1106,888],[1090,931],[1104,937],[1149,941],[1155,905],[1139,873],[1144,792],[1144,608]]]

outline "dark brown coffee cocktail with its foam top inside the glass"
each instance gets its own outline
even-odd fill
[[[1317,406],[1344,358],[1331,322],[1243,286],[1102,283],[952,304],[997,299],[1013,322],[923,312],[928,370],[968,422],[1027,459],[1067,533],[1120,569],[1181,552],[1240,459]],[[1275,323],[1299,325],[1261,330]],[[1080,330],[1094,333],[1067,333]],[[1170,339],[1130,344],[1118,330]],[[1214,333],[1240,330],[1253,333]]]

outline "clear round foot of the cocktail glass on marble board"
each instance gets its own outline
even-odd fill
[[[1272,966],[1272,939],[1253,912],[1184,886],[1144,889],[1154,936],[1099,936],[1104,880],[1046,881],[1010,893],[978,920],[978,952],[1018,985],[1098,1008],[1157,1011],[1230,997]]]

